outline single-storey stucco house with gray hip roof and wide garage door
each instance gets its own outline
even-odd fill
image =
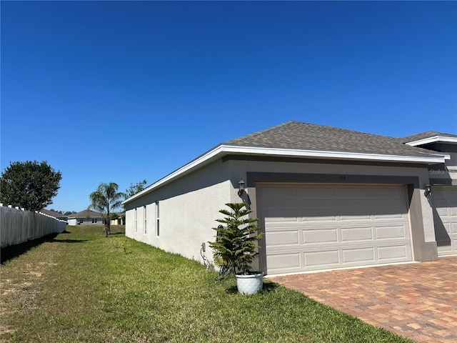
[[[219,144],[126,199],[126,236],[191,259],[205,243],[212,259],[219,209],[246,202],[265,232],[256,267],[266,274],[436,260],[436,194],[457,214],[456,175],[442,193],[431,174],[456,163],[456,136],[443,136],[423,149],[414,138],[288,121]]]

